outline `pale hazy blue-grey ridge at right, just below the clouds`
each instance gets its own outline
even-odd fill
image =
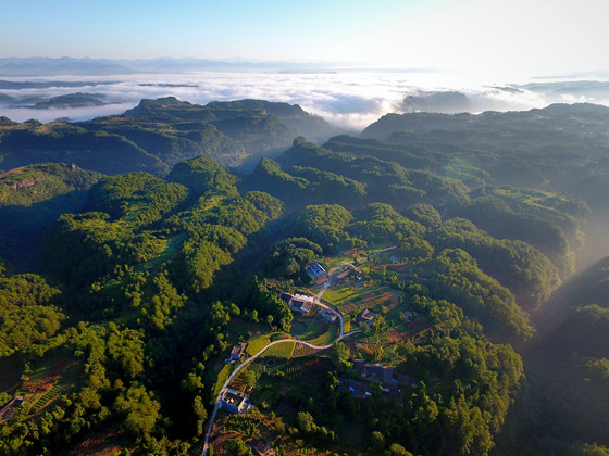
[[[434,160],[422,167],[438,173],[465,164],[480,169],[478,185],[568,191],[607,207],[599,195],[607,189],[608,117],[607,107],[586,103],[478,115],[387,114],[350,141],[363,147],[374,138],[405,157],[425,150]]]

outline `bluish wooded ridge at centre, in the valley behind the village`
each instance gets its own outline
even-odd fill
[[[442,202],[465,194],[461,182],[420,169],[407,169],[374,156],[332,152],[297,138],[279,159],[279,165],[261,162],[246,182],[278,198],[323,203],[339,202],[357,208],[384,202],[397,210],[418,202]],[[285,168],[285,169],[284,169]],[[279,194],[285,192],[285,197]]]

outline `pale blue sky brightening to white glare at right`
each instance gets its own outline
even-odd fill
[[[606,0],[0,0],[0,56],[609,69]]]

